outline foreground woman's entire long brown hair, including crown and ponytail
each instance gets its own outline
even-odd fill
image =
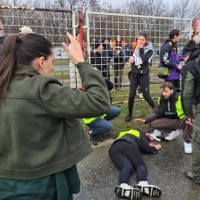
[[[51,55],[52,44],[43,36],[30,33],[8,35],[0,58],[0,105],[6,95],[18,64],[30,65],[38,57]]]

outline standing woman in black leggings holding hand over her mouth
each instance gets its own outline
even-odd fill
[[[130,91],[128,99],[128,115],[125,118],[126,122],[132,120],[132,112],[134,100],[138,86],[141,86],[144,99],[149,105],[154,108],[154,102],[150,96],[150,76],[149,65],[153,57],[153,46],[151,42],[147,42],[146,33],[140,33],[137,40],[137,46],[130,57],[129,63],[131,64],[131,71],[128,73],[130,80]]]

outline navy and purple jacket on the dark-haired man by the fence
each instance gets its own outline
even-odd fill
[[[170,75],[165,78],[165,81],[179,80],[180,71],[178,65],[180,61],[177,44],[171,39],[165,40],[160,51],[160,67],[168,67],[170,69]]]

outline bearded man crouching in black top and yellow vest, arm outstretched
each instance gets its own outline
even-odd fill
[[[145,119],[135,119],[135,121],[150,123],[154,130],[151,135],[154,139],[160,137],[162,133],[169,133],[167,136],[164,134],[164,139],[173,140],[180,134],[177,129],[182,129],[185,153],[192,153],[192,126],[186,123],[187,118],[182,108],[181,95],[176,92],[171,82],[164,82],[160,88],[161,97],[157,100],[154,112]]]

